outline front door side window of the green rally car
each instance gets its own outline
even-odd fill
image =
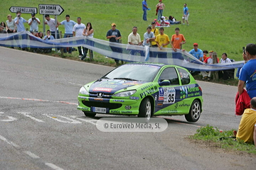
[[[169,68],[164,69],[164,71],[161,72],[161,75],[159,77],[159,82],[161,82],[163,80],[171,81],[171,85],[179,84],[176,69],[174,67],[169,67]]]

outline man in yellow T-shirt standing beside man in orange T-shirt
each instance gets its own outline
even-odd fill
[[[159,59],[161,58],[167,59],[167,52],[164,48],[166,48],[167,45],[169,45],[170,39],[169,39],[169,36],[164,33],[163,27],[161,27],[159,31],[160,31],[160,34],[156,36],[156,44],[159,47],[158,57]],[[162,62],[167,63],[167,60],[166,61],[162,60]]]

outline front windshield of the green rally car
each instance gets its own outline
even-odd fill
[[[126,79],[132,81],[152,81],[160,67],[146,64],[125,64],[112,70],[109,74],[102,77],[105,79]]]

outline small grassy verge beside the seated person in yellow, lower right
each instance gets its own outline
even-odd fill
[[[244,152],[247,154],[256,155],[255,145],[244,143],[242,141],[234,141],[233,130],[219,130],[213,126],[207,125],[206,127],[196,130],[196,134],[190,136],[193,140],[202,140],[204,142],[213,142],[215,147],[223,148],[233,152]],[[224,137],[220,140],[221,137]]]

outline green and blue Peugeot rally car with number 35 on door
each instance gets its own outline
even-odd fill
[[[78,95],[78,109],[91,117],[185,115],[196,122],[202,105],[202,89],[188,70],[166,64],[124,64],[82,86]]]

